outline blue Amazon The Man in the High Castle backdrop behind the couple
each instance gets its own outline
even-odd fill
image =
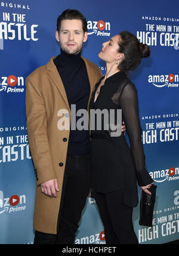
[[[179,239],[179,2],[1,0],[0,243],[33,243],[35,174],[26,129],[25,79],[60,53],[56,20],[67,8],[87,18],[88,41],[82,55],[103,75],[105,63],[97,54],[113,35],[128,30],[151,48],[151,56],[129,72],[129,78],[138,90],[146,168],[158,187],[153,227],[139,226],[138,205],[134,229],[140,244]],[[87,199],[75,243],[105,243],[92,198]]]

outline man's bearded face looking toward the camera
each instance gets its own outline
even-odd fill
[[[82,29],[81,20],[62,20],[60,32],[56,31],[55,34],[61,49],[68,54],[78,54],[87,37],[87,32],[84,33]]]

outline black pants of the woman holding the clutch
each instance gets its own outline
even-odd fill
[[[103,222],[106,244],[138,243],[132,224],[132,207],[124,204],[124,190],[107,194],[93,190],[93,196]]]

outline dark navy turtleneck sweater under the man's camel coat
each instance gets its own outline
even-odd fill
[[[76,105],[76,112],[79,109],[86,109],[90,97],[90,82],[87,68],[78,54],[67,54],[61,50],[60,55],[54,59],[54,64],[60,74],[66,91],[67,99],[71,109],[71,104]],[[81,116],[76,116],[76,122]],[[79,131],[70,129],[67,155],[83,155],[90,152],[90,132],[89,129]]]

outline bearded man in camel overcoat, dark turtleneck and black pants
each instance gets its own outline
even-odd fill
[[[90,192],[90,132],[70,126],[71,105],[88,110],[101,78],[98,66],[81,57],[87,36],[83,14],[64,11],[55,33],[60,55],[26,78],[27,132],[36,174],[34,243],[73,243]],[[61,129],[62,118],[70,129]]]

